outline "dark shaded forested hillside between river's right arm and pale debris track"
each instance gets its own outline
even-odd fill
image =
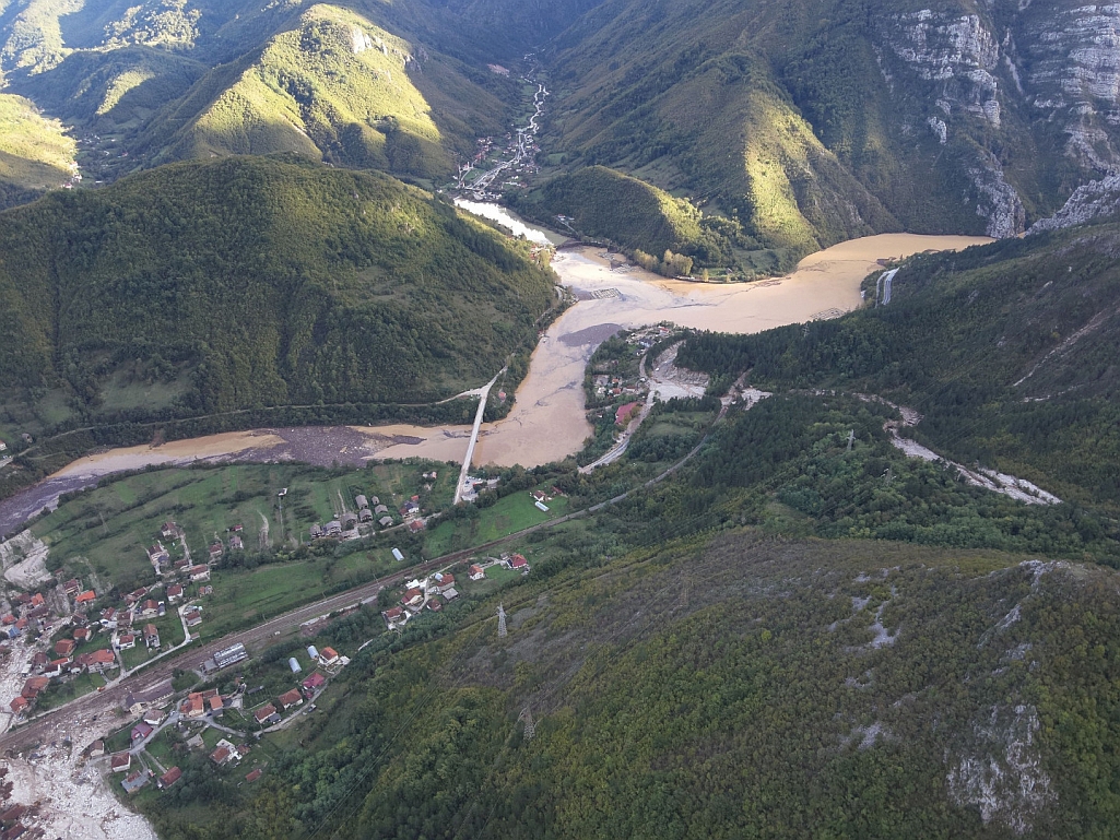
[[[679,362],[726,388],[885,395],[962,463],[1060,496],[1120,503],[1120,226],[1102,224],[908,261],[889,305],[756,336],[701,336]],[[876,280],[867,284],[875,300]]]

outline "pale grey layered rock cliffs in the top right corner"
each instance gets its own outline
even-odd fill
[[[1020,233],[1023,196],[1044,192],[1005,171],[1014,132],[1058,151],[1057,160],[1035,161],[1052,176],[1062,170],[1052,177],[1058,199],[1094,176],[1120,172],[1120,6],[987,0],[972,11],[964,3],[922,9],[881,18],[876,40],[888,80],[908,76],[911,88],[927,92],[914,130],[955,144],[972,184],[964,200],[990,235]],[[1061,218],[1099,213],[1100,192],[1082,195]]]

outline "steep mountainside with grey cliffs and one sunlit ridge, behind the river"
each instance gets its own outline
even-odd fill
[[[777,248],[1012,235],[1120,162],[1095,8],[606,0],[556,41],[551,142]]]

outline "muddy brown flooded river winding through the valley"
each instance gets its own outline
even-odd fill
[[[460,202],[526,235],[557,243],[563,236],[525,224],[505,208]],[[813,318],[836,317],[860,304],[862,279],[880,259],[925,250],[958,250],[989,242],[978,236],[883,234],[806,256],[783,278],[754,283],[692,283],[666,280],[629,267],[612,270],[601,249],[560,251],[552,262],[579,302],[549,327],[533,353],[510,416],[483,426],[475,449],[478,465],[536,466],[572,455],[590,433],[584,418],[584,368],[595,348],[620,328],[657,321],[684,327],[757,333]],[[596,295],[598,293],[598,295]],[[478,383],[482,384],[482,383]],[[53,505],[58,493],[100,476],[149,464],[196,460],[307,460],[362,464],[371,458],[410,456],[461,460],[469,427],[392,424],[334,429],[267,429],[179,440],[160,447],[130,447],[82,458],[36,487],[0,503],[0,533],[31,512]]]

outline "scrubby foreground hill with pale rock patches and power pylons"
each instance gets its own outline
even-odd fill
[[[1114,571],[736,534],[536,576],[505,638],[495,598],[366,647],[263,790],[192,763],[148,809],[161,836],[1109,830]]]

